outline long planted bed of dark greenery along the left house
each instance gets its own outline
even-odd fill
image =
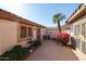
[[[11,51],[4,52],[0,56],[0,61],[20,61],[25,57],[25,55],[30,54],[36,48],[41,44],[40,41],[32,41],[30,46],[24,48],[22,46],[15,46]]]

